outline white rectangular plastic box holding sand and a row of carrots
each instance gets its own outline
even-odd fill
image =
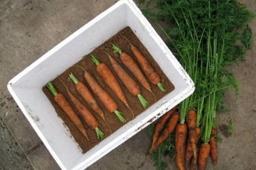
[[[126,26],[133,30],[149,50],[175,89],[90,151],[82,154],[41,89],[49,80],[77,63],[81,56],[90,53]],[[16,75],[7,87],[60,168],[73,170],[87,168],[194,91],[191,78],[132,0],[116,2]]]

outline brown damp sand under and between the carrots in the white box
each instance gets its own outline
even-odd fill
[[[166,92],[161,92],[158,89],[157,86],[155,86],[155,85],[153,85],[153,84],[151,84],[149,82],[151,84],[152,92],[154,92],[154,94],[156,95],[157,100],[159,100],[160,98],[164,97],[166,94],[171,92],[174,89],[174,86],[172,86],[171,82],[168,80],[168,78],[162,72],[162,70],[160,69],[158,64],[155,62],[155,60],[149,54],[148,50],[143,46],[143,44],[140,42],[140,40],[137,38],[137,36],[132,32],[132,30],[129,27],[124,28],[123,30],[118,32],[115,36],[113,36],[112,38],[108,39],[108,41],[104,42],[104,44],[99,46],[99,49],[105,49],[108,53],[110,53],[110,55],[114,56],[114,58],[118,61],[118,63],[120,63],[123,66],[123,68],[129,73],[129,75],[133,78],[133,80],[137,81],[137,79],[135,77],[133,77],[132,73],[129,70],[127,70],[126,67],[121,63],[121,61],[118,58],[118,55],[117,54],[113,54],[111,43],[112,42],[117,42],[119,47],[121,47],[121,49],[124,52],[128,53],[129,55],[132,55],[132,51],[130,50],[129,42],[127,42],[127,40],[124,39],[121,36],[121,34],[126,36],[127,38],[129,38],[129,40],[132,42],[132,44],[135,47],[137,47],[138,49],[140,49],[141,53],[143,53],[143,55],[146,56],[148,61],[152,64],[152,66],[155,68],[155,70],[157,70],[157,72],[159,73],[160,77],[162,78],[162,83],[166,87]],[[94,55],[98,56],[99,60],[102,63],[107,64],[107,66],[110,67],[110,69],[114,73],[115,77],[118,79],[116,73],[114,72],[113,68],[111,67],[110,62],[108,61],[107,55],[104,52],[102,52],[102,50],[99,50],[99,49],[95,49],[93,52],[91,52],[91,54],[94,54]],[[91,61],[90,57],[87,57],[87,58],[84,58],[84,59],[80,60],[75,65],[82,66],[82,67],[85,68],[85,70],[90,72],[91,75],[93,75],[93,77],[96,78],[98,83],[116,101],[116,103],[118,104],[118,107],[119,107],[118,109],[121,112],[124,113],[124,117],[126,118],[127,122],[132,120],[132,114],[130,113],[130,110],[116,97],[115,94],[113,94],[112,90],[110,90],[110,88],[107,86],[107,84],[105,84],[104,81],[102,81],[102,79],[98,75],[98,72],[96,71],[96,65],[93,63],[93,61]],[[68,75],[71,72],[78,78],[79,81],[82,81],[83,83],[86,84],[87,87],[89,87],[88,84],[85,82],[85,79],[84,79],[84,71],[82,69],[79,69],[78,67],[69,67],[69,69],[67,69],[65,72],[63,72],[59,77],[57,77],[54,80],[52,80],[52,83],[55,85],[55,87],[57,88],[58,92],[62,93],[68,99],[68,95],[66,93],[65,87],[59,81],[59,78],[61,78],[64,81],[64,83],[69,87],[69,90],[71,91],[71,93],[73,93],[77,98],[79,98],[80,101],[82,101],[83,104],[85,104],[85,106],[88,107],[88,104],[85,103],[85,101],[82,99],[82,97],[80,97],[79,94],[77,94],[76,89],[74,87],[74,83],[68,78]],[[129,91],[126,89],[124,84],[121,83],[121,81],[119,79],[118,79],[118,81],[119,81],[119,84],[121,85],[122,89],[124,90],[124,94],[126,95],[127,101],[129,103],[129,105],[132,106],[131,108],[132,108],[132,110],[133,110],[133,112],[135,114],[135,117],[136,117],[141,112],[143,112],[145,109],[143,109],[143,107],[141,106],[140,102],[138,101],[138,98],[137,97],[133,97],[129,93]],[[137,83],[138,83],[138,81],[137,81]],[[154,100],[154,97],[152,96],[152,94],[150,92],[148,92],[146,89],[144,89],[143,86],[141,86],[140,83],[138,83],[138,84],[141,87],[141,94],[143,95],[143,97],[146,98],[146,100],[148,100],[149,105],[153,104],[155,102],[155,100]],[[46,96],[51,101],[51,103],[54,106],[54,108],[55,108],[57,114],[59,115],[59,117],[62,118],[62,120],[64,121],[64,123],[68,127],[69,131],[71,132],[71,134],[74,137],[74,140],[76,140],[76,142],[79,144],[80,148],[82,148],[83,153],[87,152],[89,149],[93,148],[93,146],[95,146],[96,144],[99,143],[99,140],[96,137],[95,131],[90,129],[87,126],[87,124],[81,118],[81,120],[85,124],[88,136],[89,136],[89,138],[91,140],[91,144],[89,144],[88,141],[86,140],[86,138],[80,133],[80,131],[74,125],[74,123],[71,120],[69,120],[68,116],[54,102],[54,96],[49,92],[49,90],[46,87],[43,87],[43,92],[46,94]],[[102,103],[99,101],[99,99],[95,95],[94,95],[94,97],[96,98],[96,101],[98,102],[98,104],[101,107],[101,109],[104,111],[105,118],[106,118],[108,124],[110,125],[110,127],[112,129],[112,132],[115,132],[117,129],[119,129],[121,126],[124,125],[123,123],[121,123],[118,120],[118,118],[116,117],[115,114],[107,112],[105,107],[102,105]],[[69,101],[69,103],[71,103],[69,99],[68,99],[68,101]],[[73,108],[74,108],[74,106],[73,106]],[[90,107],[88,107],[88,109],[90,109]],[[77,112],[76,109],[74,109],[74,110]],[[99,127],[100,127],[100,129],[102,129],[102,131],[105,134],[104,137],[105,138],[108,137],[108,135],[110,135],[110,131],[108,131],[107,125],[104,123],[104,121],[96,113],[94,113],[93,111],[91,111],[91,112],[94,114],[94,116],[99,121],[99,123],[100,123]],[[54,114],[54,113],[52,113],[52,114]]]

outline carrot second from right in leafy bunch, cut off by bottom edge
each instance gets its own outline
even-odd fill
[[[202,143],[199,150],[198,164],[199,170],[206,168],[207,159],[210,155],[211,146],[208,143]]]

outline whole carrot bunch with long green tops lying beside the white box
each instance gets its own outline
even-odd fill
[[[169,134],[176,128],[177,167],[202,170],[206,168],[208,157],[211,157],[216,169],[216,112],[222,104],[224,89],[233,87],[235,92],[238,90],[235,77],[225,66],[241,60],[251,47],[252,31],[247,22],[254,14],[236,0],[162,0],[146,3],[148,9],[144,10],[144,14],[148,18],[174,25],[171,29],[163,29],[156,22],[196,87],[194,94],[180,103],[179,112],[172,109],[160,118],[149,150],[156,151],[160,144],[170,148],[172,143],[163,141],[171,138]],[[158,169],[165,169],[166,166],[159,166],[159,158],[163,155],[159,153],[153,153],[158,158]]]

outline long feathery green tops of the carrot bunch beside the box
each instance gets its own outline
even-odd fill
[[[188,110],[196,110],[196,126],[202,129],[203,143],[208,143],[224,90],[232,87],[236,94],[238,92],[238,83],[226,66],[242,60],[246,50],[252,47],[252,31],[247,23],[254,14],[236,0],[145,0],[140,3],[146,7],[144,15],[164,33],[169,48],[195,84],[194,94],[180,103],[180,124],[185,123]],[[158,169],[166,169],[162,157],[173,152],[167,149],[174,149],[171,141],[163,143],[161,151],[152,154]]]

